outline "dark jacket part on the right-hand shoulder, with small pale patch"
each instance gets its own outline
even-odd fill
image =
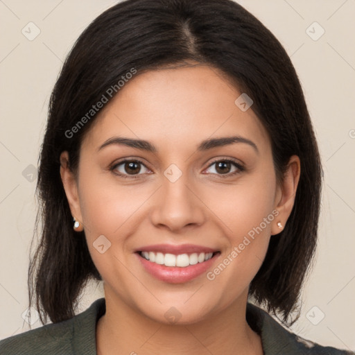
[[[324,347],[288,331],[266,311],[248,303],[247,320],[261,336],[265,355],[355,355],[355,352]]]

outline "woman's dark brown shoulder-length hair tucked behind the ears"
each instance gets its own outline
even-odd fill
[[[131,68],[139,73],[187,60],[214,67],[252,98],[270,135],[277,177],[291,155],[301,161],[295,205],[271,239],[250,295],[284,321],[297,300],[315,251],[322,168],[297,74],[279,41],[230,0],[128,0],[98,16],[80,35],[51,95],[40,153],[37,194],[41,239],[28,268],[28,296],[42,324],[72,318],[89,279],[102,280],[73,219],[60,178],[60,153],[78,167],[80,142],[97,115],[72,137],[66,132]],[[119,94],[119,93],[118,93]],[[32,246],[32,245],[31,245]]]

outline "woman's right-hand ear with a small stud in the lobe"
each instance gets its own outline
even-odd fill
[[[271,235],[279,234],[279,232],[284,230],[288,217],[293,209],[293,205],[295,204],[297,186],[300,181],[300,172],[300,158],[297,157],[297,155],[293,155],[288,161],[284,180],[282,184],[277,187],[275,209],[279,211],[279,214],[272,223]],[[281,223],[282,227],[279,227],[279,223]]]

